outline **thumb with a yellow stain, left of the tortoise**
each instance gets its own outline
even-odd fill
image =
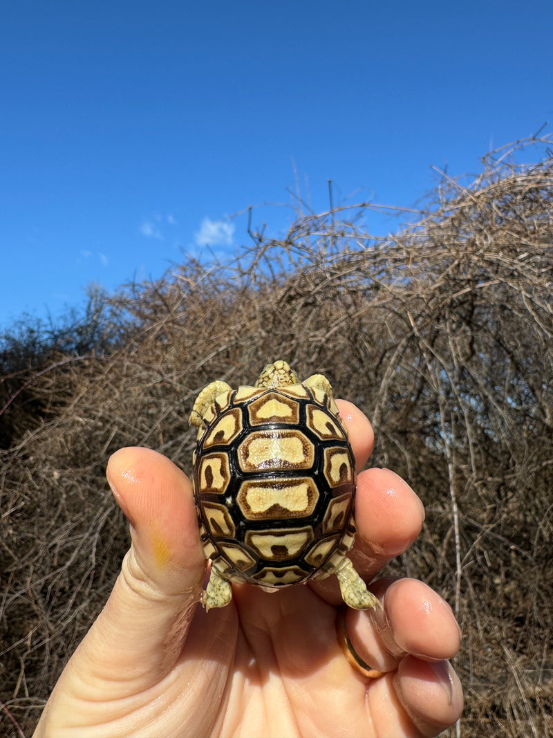
[[[116,452],[108,482],[131,523],[132,545],[114,590],[80,646],[94,675],[128,694],[170,672],[186,640],[206,570],[192,485],[142,448]],[[132,686],[129,682],[132,682]]]

